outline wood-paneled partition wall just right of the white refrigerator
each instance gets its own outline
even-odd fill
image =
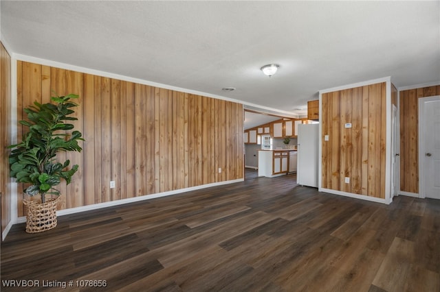
[[[385,198],[385,109],[385,82],[322,94],[323,188]]]

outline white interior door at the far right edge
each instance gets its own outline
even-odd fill
[[[421,197],[440,199],[440,96],[419,99],[419,123]]]

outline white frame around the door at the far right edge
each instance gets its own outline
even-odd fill
[[[426,101],[440,101],[440,95],[436,95],[433,97],[419,97],[418,100],[418,106],[419,106],[419,117],[417,119],[418,123],[419,123],[419,197],[420,198],[425,198],[425,185],[424,185],[424,153],[422,151],[422,149],[425,149],[425,141],[424,141],[424,133],[423,133],[423,122],[424,122],[424,117],[425,115],[423,114],[424,110],[425,110],[425,103]]]

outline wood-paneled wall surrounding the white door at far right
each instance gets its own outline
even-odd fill
[[[399,93],[400,112],[400,191],[419,193],[419,101],[440,95],[440,85]]]

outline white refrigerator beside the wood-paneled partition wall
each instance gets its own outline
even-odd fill
[[[318,123],[298,125],[296,181],[300,185],[318,187],[318,143]]]

